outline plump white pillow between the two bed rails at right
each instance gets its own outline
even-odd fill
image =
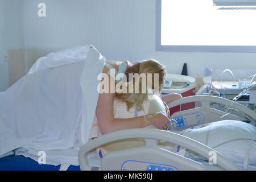
[[[213,148],[234,163],[243,163],[250,149],[249,164],[256,164],[256,127],[249,123],[224,120],[184,130],[180,134]],[[193,157],[202,158],[199,155]]]

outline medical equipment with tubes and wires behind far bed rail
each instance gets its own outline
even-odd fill
[[[205,76],[203,78],[203,86],[196,92],[196,96],[209,95],[228,98],[255,111],[255,70],[245,72],[242,70],[231,71],[230,69],[225,69],[222,71],[205,68]],[[232,76],[231,79],[230,76]],[[226,114],[237,112],[231,109],[232,105],[225,106],[214,102],[211,105]]]

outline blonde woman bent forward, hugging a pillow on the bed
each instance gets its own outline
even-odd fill
[[[110,68],[115,69],[118,72],[118,69],[124,63],[115,62],[115,61],[106,61],[107,66],[104,67],[103,73],[107,74],[110,71]],[[110,67],[109,67],[110,65]],[[164,84],[164,76],[166,75],[165,68],[162,64],[155,60],[147,60],[141,61],[139,63],[131,64],[127,62],[127,68],[125,69],[125,77],[129,77],[129,73],[157,73],[159,75],[159,90],[163,88]],[[104,79],[102,79],[103,81]],[[114,78],[108,74],[108,80],[112,80],[114,82]],[[126,80],[127,81],[127,80]],[[154,82],[154,79],[152,80]],[[142,85],[140,85],[142,86]],[[109,82],[110,88],[110,82]],[[154,88],[154,83],[152,87]],[[141,90],[140,90],[141,91]],[[160,92],[159,92],[160,93]],[[166,102],[171,102],[181,98],[180,94],[168,94],[162,98],[161,93],[159,97],[162,98],[164,105],[166,106],[167,115],[162,113],[148,115],[148,117],[133,117],[133,118],[114,118],[113,115],[113,107],[114,107],[114,98],[117,97],[122,102],[125,102],[127,105],[127,109],[129,110],[131,107],[139,107],[139,110],[143,109],[143,102],[147,100],[148,93],[100,93],[98,96],[96,115],[97,122],[100,128],[101,134],[110,133],[117,130],[123,129],[133,129],[133,128],[142,128],[148,125],[154,125],[158,129],[166,130],[169,126],[170,122],[170,113]],[[105,107],[108,105],[109,107]],[[146,122],[145,122],[146,121]]]

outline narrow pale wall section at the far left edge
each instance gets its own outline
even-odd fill
[[[9,87],[9,49],[20,48],[19,0],[0,0],[0,92]]]

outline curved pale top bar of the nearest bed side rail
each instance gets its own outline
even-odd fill
[[[114,142],[115,140],[129,139],[129,138],[143,138],[146,142],[145,147],[155,148],[158,144],[158,140],[164,140],[166,142],[179,144],[189,150],[195,151],[198,154],[204,156],[209,160],[210,152],[214,150],[210,147],[205,146],[196,140],[184,137],[183,135],[175,134],[170,131],[163,131],[158,129],[127,129],[115,131],[98,137],[82,146],[79,151],[79,163],[81,170],[90,170],[92,167],[88,164],[88,154],[91,150],[96,147],[102,146],[105,143]],[[238,170],[237,166],[221,155],[217,151],[216,162],[217,164],[226,170]]]

